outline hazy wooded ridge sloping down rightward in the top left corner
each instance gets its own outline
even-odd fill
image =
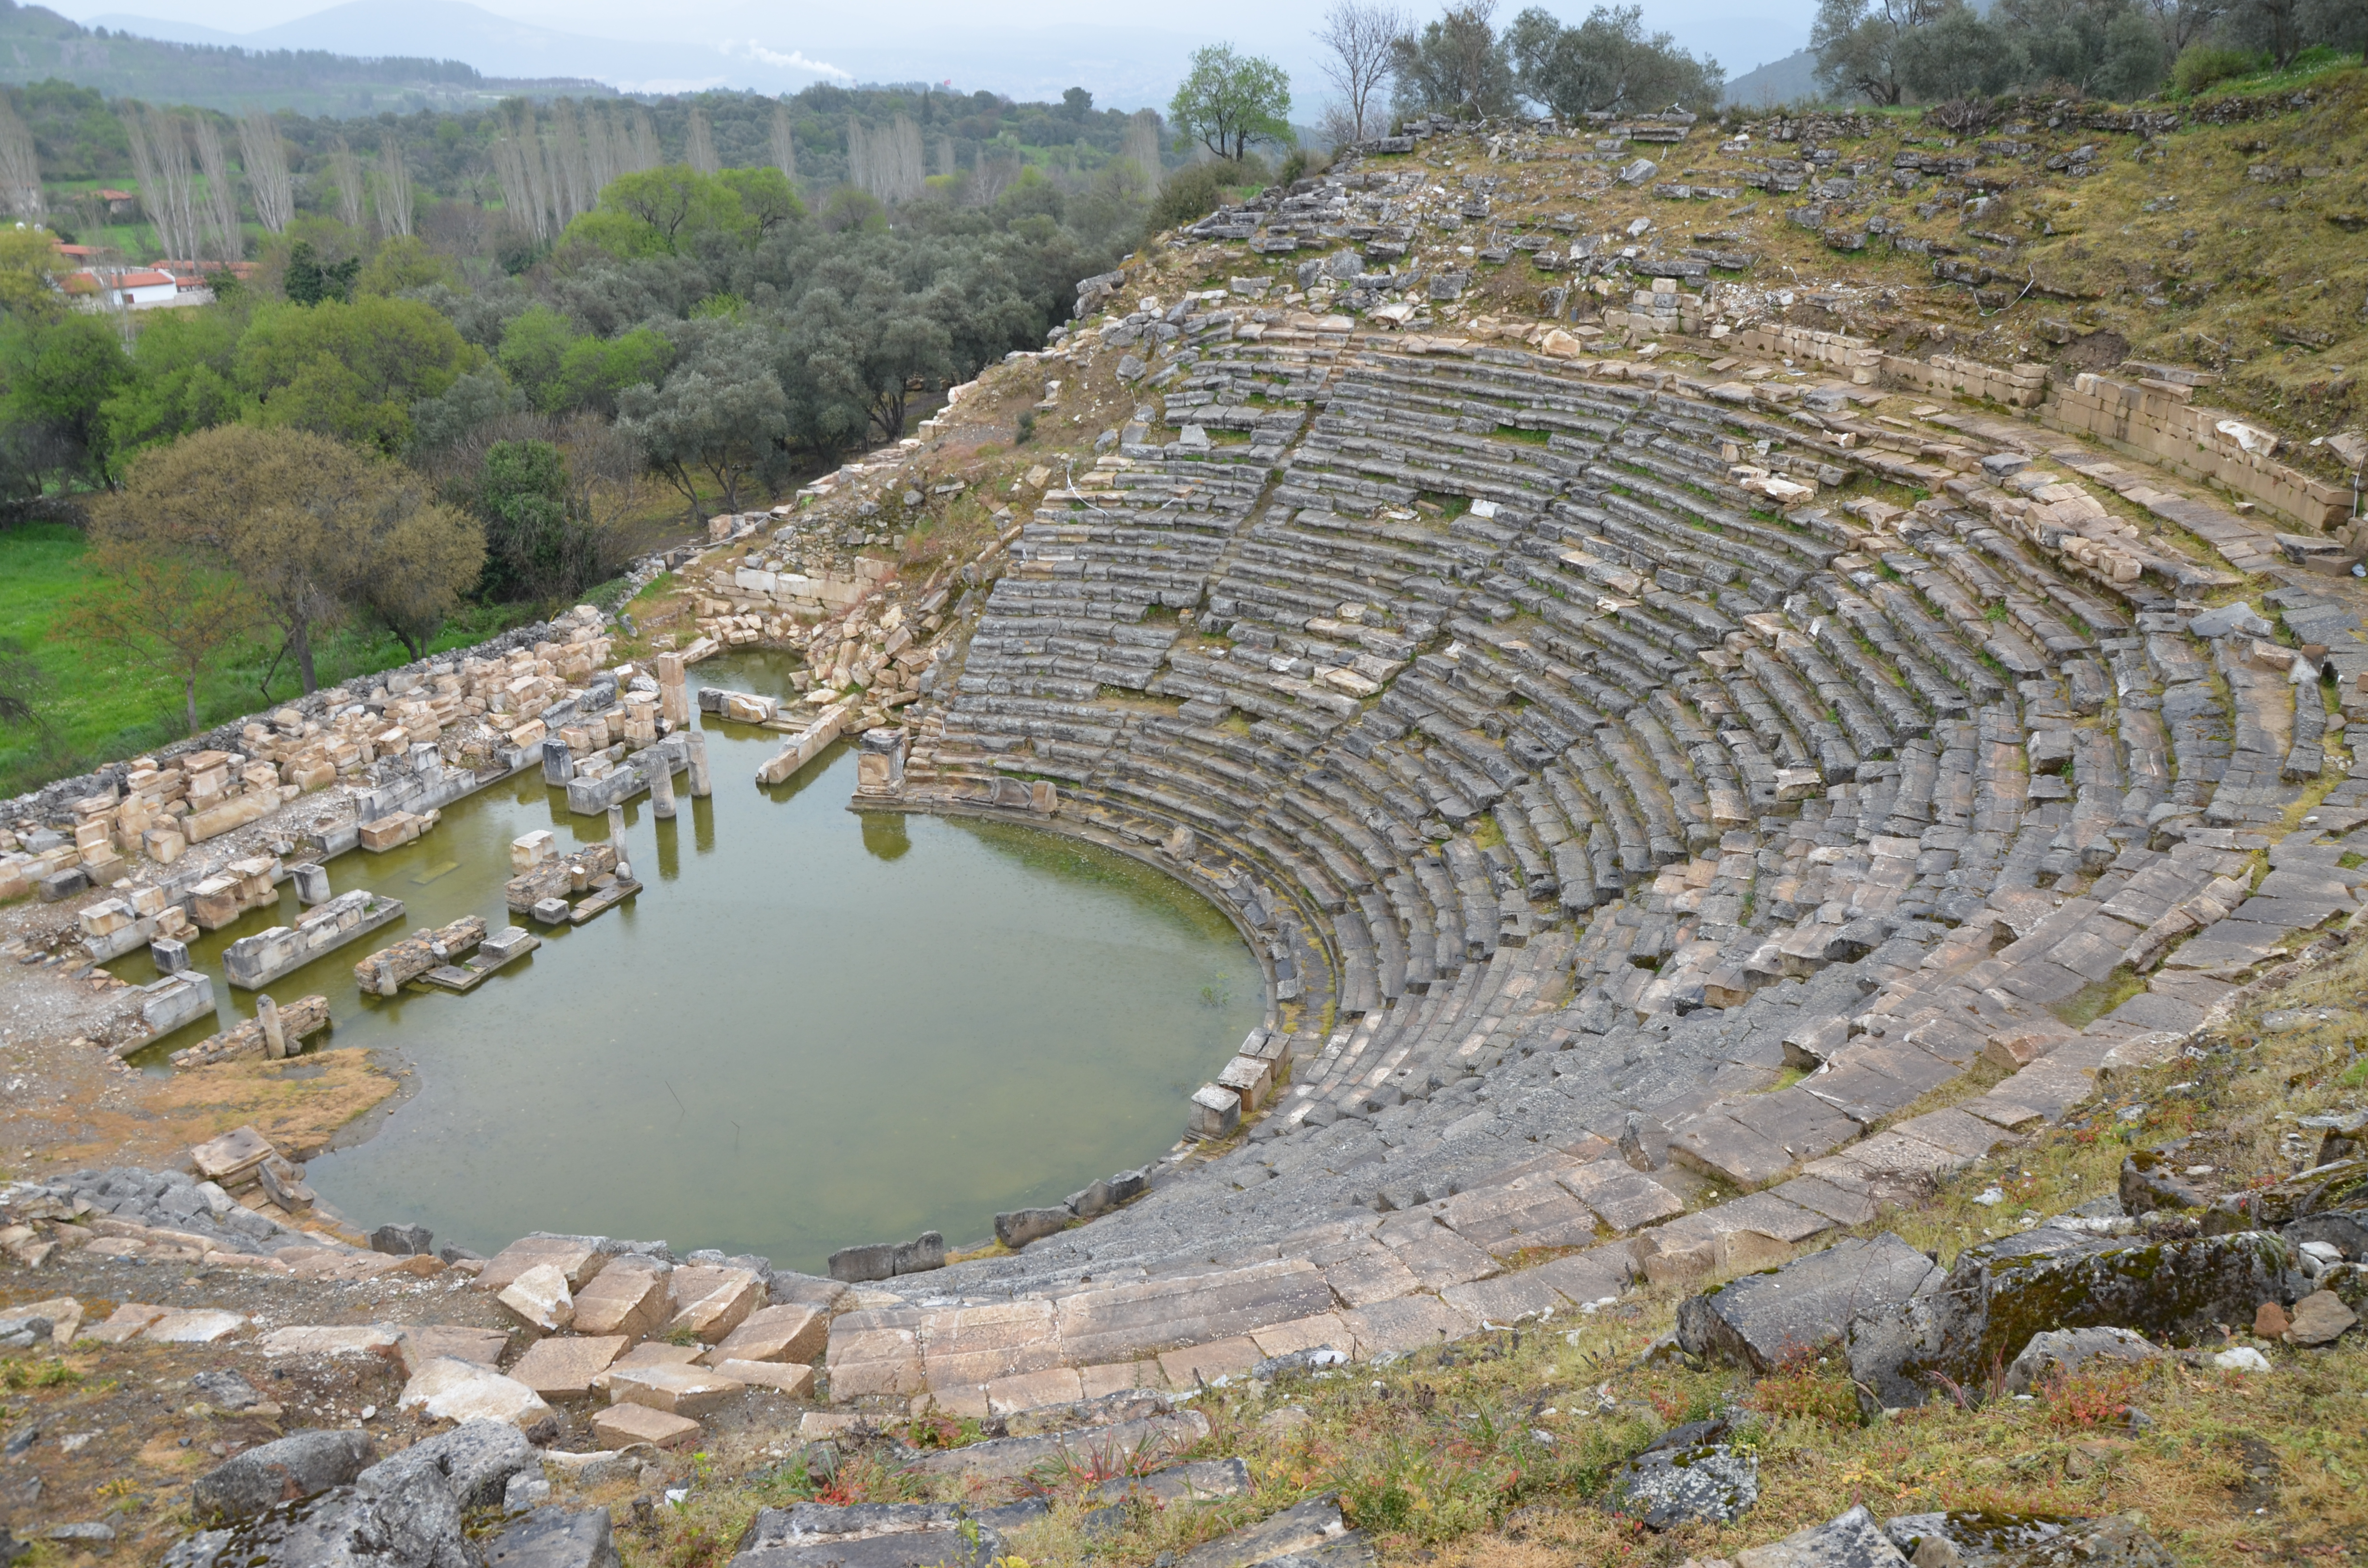
[[[455,109],[516,92],[606,92],[592,81],[500,81],[457,59],[381,50],[377,59],[225,45],[218,38],[128,38],[85,28],[38,5],[0,0],[0,83],[66,81],[111,97],[204,104],[237,111],[249,104],[305,114],[377,114],[384,109]]]

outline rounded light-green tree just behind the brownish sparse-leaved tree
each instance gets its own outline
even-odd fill
[[[256,310],[234,367],[260,424],[395,452],[410,441],[412,405],[478,362],[483,353],[431,306],[365,294]]]

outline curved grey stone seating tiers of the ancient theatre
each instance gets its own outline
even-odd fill
[[[1049,497],[905,779],[1056,779],[1056,827],[1227,902],[1295,1082],[1238,1151],[933,1291],[1291,1255],[1632,1116],[1691,1172],[1800,1180],[1987,1040],[2070,1035],[2318,772],[2316,694],[2160,583],[1946,495],[1755,514],[1738,450],[1804,431],[1674,377],[1189,334],[1163,422],[1205,436],[1141,410]],[[2207,969],[2091,1033],[2193,1023]]]

